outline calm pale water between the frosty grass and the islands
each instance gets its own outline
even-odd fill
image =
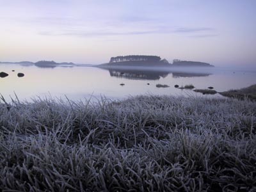
[[[15,72],[12,72],[15,70]],[[256,83],[256,73],[228,68],[194,68],[193,72],[152,72],[133,70],[106,70],[96,67],[54,67],[40,68],[17,64],[1,64],[0,72],[8,77],[0,78],[0,93],[10,101],[15,94],[20,100],[36,97],[53,97],[71,100],[93,99],[105,96],[110,99],[124,99],[130,95],[200,95],[191,90],[174,88],[175,84],[193,84],[204,89],[213,86],[217,92],[244,88]],[[24,77],[17,77],[22,72]],[[124,86],[120,86],[124,83]],[[148,84],[149,83],[149,84]],[[156,84],[168,84],[168,88],[157,88]],[[221,97],[204,95],[204,97]]]

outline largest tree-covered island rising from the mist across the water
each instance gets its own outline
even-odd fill
[[[97,67],[214,67],[214,65],[200,61],[182,60],[173,60],[173,63],[169,63],[166,59],[162,60],[159,56],[128,55],[111,57],[108,63],[97,65]]]

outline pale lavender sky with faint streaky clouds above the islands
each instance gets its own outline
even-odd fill
[[[0,61],[143,54],[256,66],[256,1],[0,0]]]

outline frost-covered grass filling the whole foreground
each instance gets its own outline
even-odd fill
[[[0,104],[3,191],[254,191],[256,102]]]

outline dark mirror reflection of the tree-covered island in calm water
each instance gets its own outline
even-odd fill
[[[161,77],[167,77],[172,74],[177,77],[207,77],[211,74],[188,73],[188,72],[163,72],[152,70],[127,70],[127,69],[108,69],[111,77],[134,79],[134,80],[159,80]]]

